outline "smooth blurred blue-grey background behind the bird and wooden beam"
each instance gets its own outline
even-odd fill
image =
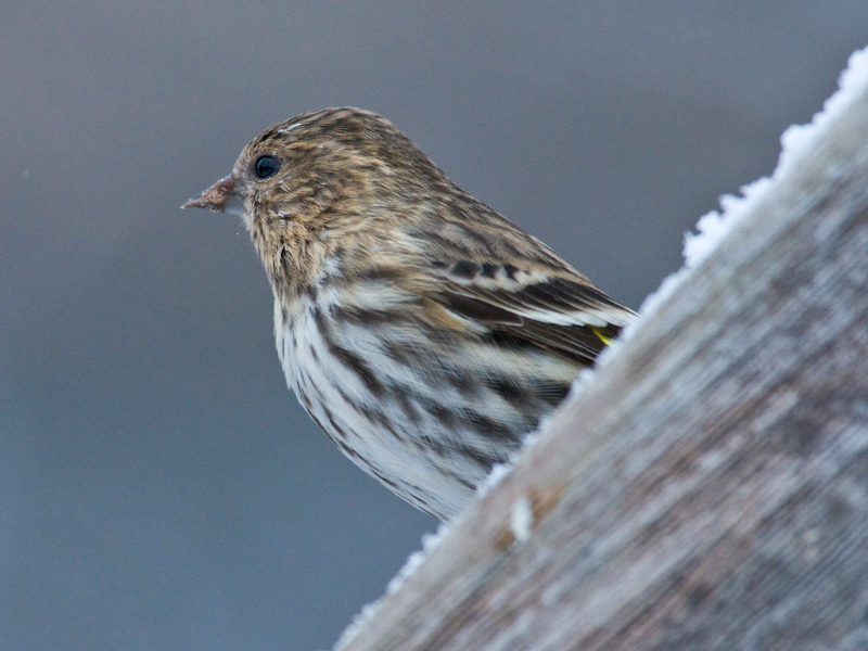
[[[328,648],[436,523],[288,392],[233,216],[373,110],[633,307],[868,43],[864,0],[33,0],[0,22],[0,649]]]

